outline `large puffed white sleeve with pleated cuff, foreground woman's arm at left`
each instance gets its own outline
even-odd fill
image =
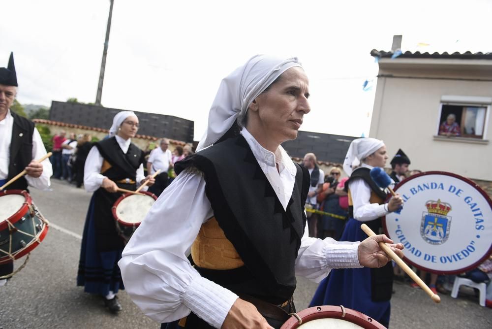
[[[155,201],[118,263],[125,290],[159,323],[190,311],[220,328],[238,298],[200,276],[186,255],[201,225],[213,216],[201,173],[184,171]]]

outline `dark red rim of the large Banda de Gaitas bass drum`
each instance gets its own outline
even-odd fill
[[[424,171],[424,172],[421,172],[421,173],[412,175],[410,177],[407,177],[407,178],[403,179],[400,183],[398,183],[397,186],[395,187],[394,191],[397,192],[398,189],[403,185],[403,183],[407,183],[408,181],[411,181],[412,179],[415,179],[415,178],[420,177],[420,176],[426,176],[426,175],[444,175],[444,176],[451,176],[451,177],[460,179],[463,182],[465,182],[468,185],[470,185],[472,188],[474,188],[477,192],[479,192],[487,200],[487,202],[489,203],[489,206],[492,208],[492,199],[491,199],[491,197],[489,197],[489,195],[482,188],[480,188],[477,185],[477,183],[475,183],[471,179],[468,179],[466,177],[460,176],[460,175],[455,174],[455,173],[452,173],[452,172],[447,172],[447,171],[431,170],[431,171]],[[386,198],[386,202],[388,202],[390,198],[391,198],[391,195],[388,195],[388,197]],[[389,231],[388,231],[388,227],[386,225],[386,216],[383,216],[381,218],[382,218],[381,222],[383,224],[384,234],[391,239],[391,236],[390,236]],[[485,262],[490,257],[491,254],[492,254],[492,246],[489,249],[489,251],[487,251],[484,254],[484,256],[478,262],[473,263],[470,266],[467,266],[465,268],[460,268],[458,270],[451,270],[451,271],[442,271],[442,270],[436,271],[434,269],[424,267],[421,264],[417,264],[415,262],[412,262],[412,261],[410,261],[405,256],[403,256],[403,261],[405,263],[407,263],[407,264],[410,264],[412,266],[417,267],[420,270],[424,270],[424,271],[427,271],[427,272],[430,272],[430,273],[452,275],[452,274],[458,274],[458,273],[467,272],[467,271],[469,271],[469,270],[471,270],[473,268],[476,268],[478,265],[480,265],[481,263]]]

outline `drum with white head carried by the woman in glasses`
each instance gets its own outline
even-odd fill
[[[126,244],[133,232],[149,212],[157,197],[150,193],[140,191],[142,195],[126,193],[116,200],[112,211],[116,220],[116,229]]]

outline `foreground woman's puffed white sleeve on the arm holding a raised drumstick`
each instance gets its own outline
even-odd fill
[[[324,240],[309,237],[307,224],[301,247],[296,259],[296,275],[320,282],[328,276],[332,268],[360,268],[359,241],[337,241],[331,237]]]

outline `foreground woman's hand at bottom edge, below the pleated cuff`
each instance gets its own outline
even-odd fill
[[[253,304],[241,298],[236,299],[221,328],[274,329]]]

